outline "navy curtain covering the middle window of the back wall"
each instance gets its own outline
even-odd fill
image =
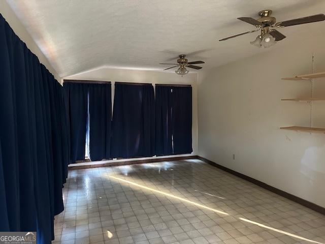
[[[115,83],[111,158],[155,155],[152,84]]]

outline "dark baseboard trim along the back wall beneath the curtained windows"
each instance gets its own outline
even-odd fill
[[[171,157],[171,158],[152,158],[152,159],[140,159],[140,160],[125,160],[125,161],[111,161],[99,164],[88,164],[88,165],[76,165],[70,164],[68,169],[91,169],[91,168],[102,168],[102,167],[111,167],[111,166],[121,166],[121,165],[133,165],[133,164],[146,164],[146,163],[156,163],[163,161],[176,161],[176,160],[185,160],[185,159],[197,159],[198,156],[183,156],[183,157]]]

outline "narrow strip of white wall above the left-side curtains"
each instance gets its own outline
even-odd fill
[[[10,27],[14,30],[15,34],[24,42],[29,50],[34,53],[40,60],[40,62],[54,75],[55,79],[60,82],[60,77],[53,69],[53,67],[48,62],[47,58],[37,46],[35,41],[31,38],[29,33],[26,31],[25,27],[22,25],[20,20],[17,18],[16,14],[12,11],[10,6],[5,0],[1,1],[0,13],[6,21],[9,23]]]

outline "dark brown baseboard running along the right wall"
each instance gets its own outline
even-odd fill
[[[262,187],[262,188],[264,188],[266,190],[274,192],[274,193],[276,193],[276,194],[278,194],[278,195],[280,195],[282,197],[285,197],[285,198],[287,198],[287,199],[289,199],[291,201],[297,202],[297,203],[299,203],[299,204],[301,204],[301,205],[303,205],[305,207],[308,207],[308,208],[310,208],[310,209],[312,209],[312,210],[314,210],[316,212],[319,212],[320,214],[325,215],[325,208],[324,207],[321,207],[321,206],[319,206],[319,205],[317,205],[315,203],[309,202],[309,201],[307,201],[305,199],[302,199],[300,197],[297,197],[295,195],[292,195],[290,193],[282,191],[282,190],[280,190],[278,188],[272,187],[272,186],[270,186],[270,185],[268,185],[268,184],[266,184],[266,183],[264,183],[262,181],[254,179],[252,177],[249,177],[249,176],[247,176],[245,174],[239,173],[239,172],[237,172],[235,170],[226,168],[226,167],[224,167],[222,165],[219,165],[219,164],[217,164],[215,162],[212,162],[212,161],[210,161],[208,159],[205,159],[203,157],[198,156],[197,158],[204,161],[204,162],[206,162],[206,163],[208,163],[208,164],[210,164],[210,165],[212,165],[212,166],[214,166],[214,167],[217,167],[217,168],[219,168],[219,169],[221,169],[223,171],[226,171],[228,173],[236,175],[236,176],[238,176],[238,177],[240,177],[242,179],[245,179],[245,180],[247,180],[247,181],[249,181],[249,182],[251,182],[251,183],[253,183],[253,184],[255,184],[255,185],[259,186],[259,187]]]

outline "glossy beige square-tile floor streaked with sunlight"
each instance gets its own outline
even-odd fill
[[[63,197],[61,244],[325,243],[325,216],[195,159],[72,170]]]

